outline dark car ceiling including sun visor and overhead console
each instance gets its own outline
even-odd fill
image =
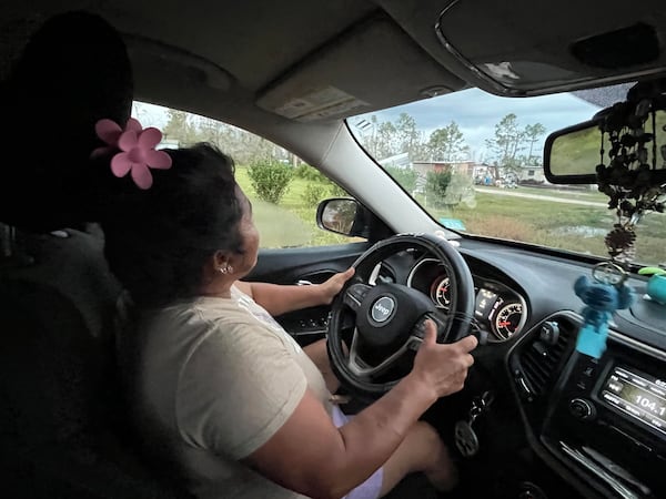
[[[0,75],[34,28],[71,9],[122,32],[137,99],[241,124],[334,121],[468,86],[583,89],[666,68],[660,0],[6,0]],[[627,48],[643,60],[627,61]]]

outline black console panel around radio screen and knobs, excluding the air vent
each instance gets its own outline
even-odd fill
[[[603,491],[666,497],[666,369],[626,348],[612,340],[598,361],[572,355],[541,439]]]

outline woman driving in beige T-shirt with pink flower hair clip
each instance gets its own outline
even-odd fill
[[[354,271],[241,281],[259,234],[232,160],[208,144],[155,151],[155,129],[102,122],[91,169],[105,254],[138,312],[120,356],[145,448],[201,498],[376,498],[415,471],[453,488],[446,447],[418,418],[463,387],[476,339],[437,344],[428,323],[411,373],[347,417],[325,345],[301,348],[273,316],[330,304]]]

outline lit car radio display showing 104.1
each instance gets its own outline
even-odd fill
[[[615,366],[601,393],[602,399],[666,435],[666,381]]]

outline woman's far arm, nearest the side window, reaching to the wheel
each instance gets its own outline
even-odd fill
[[[354,268],[350,267],[322,284],[297,286],[236,281],[235,286],[251,296],[269,314],[276,316],[301,308],[331,304],[344,283],[353,275]]]

